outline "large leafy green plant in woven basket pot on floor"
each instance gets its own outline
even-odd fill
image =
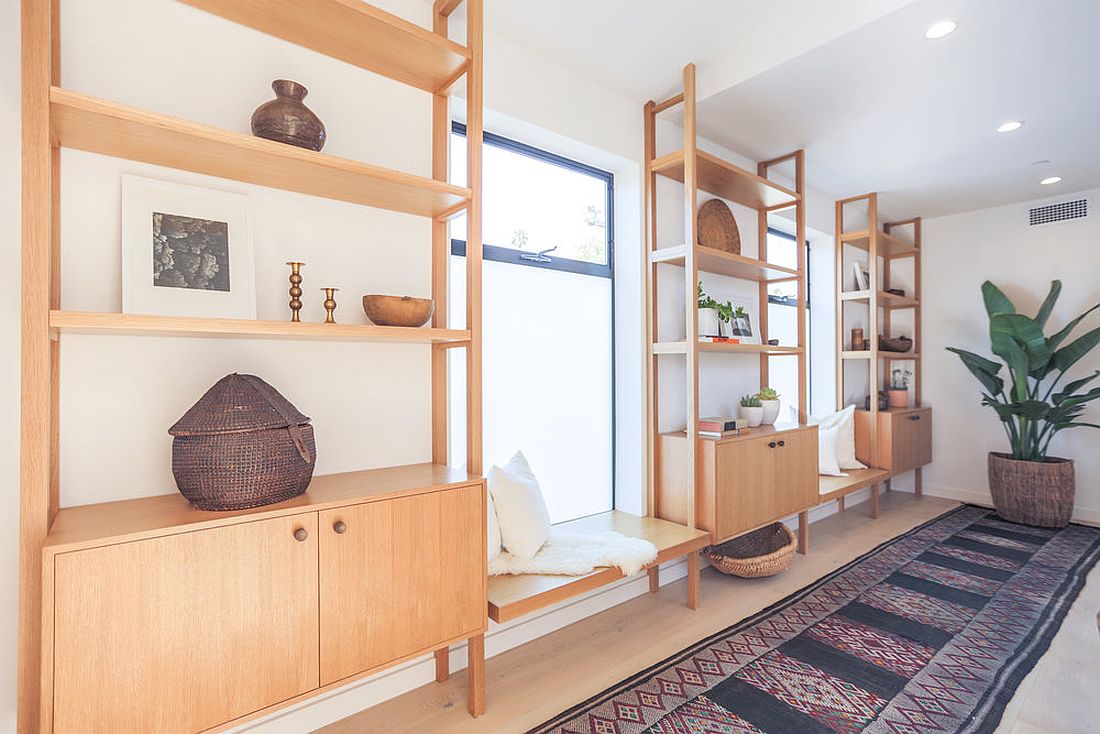
[[[1050,283],[1032,318],[1018,314],[996,285],[982,284],[991,349],[1008,368],[1008,383],[1000,362],[948,347],[981,383],[981,404],[997,412],[1012,449],[989,454],[989,491],[997,513],[1043,527],[1065,527],[1074,511],[1074,461],[1049,456],[1050,441],[1067,428],[1100,428],[1080,420],[1086,406],[1100,397],[1100,387],[1082,390],[1100,376],[1100,370],[1059,388],[1069,369],[1100,343],[1100,328],[1064,343],[1100,304],[1047,337],[1043,329],[1060,293],[1062,282]]]

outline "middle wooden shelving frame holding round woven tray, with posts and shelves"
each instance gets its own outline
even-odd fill
[[[730,354],[756,355],[760,363],[760,384],[768,383],[768,359],[773,355],[789,355],[799,360],[799,423],[805,424],[807,415],[806,385],[806,252],[803,247],[805,232],[805,174],[803,151],[763,161],[757,164],[754,174],[739,166],[722,161],[698,149],[697,98],[695,65],[683,69],[683,90],[660,102],[649,101],[645,106],[645,237],[646,250],[642,258],[642,282],[646,288],[646,486],[647,512],[658,516],[660,492],[657,486],[659,475],[657,439],[659,435],[659,368],[661,357],[683,354],[685,370],[685,465],[689,467],[688,525],[695,527],[697,491],[701,483],[698,456],[698,355],[703,351]],[[683,106],[683,145],[672,153],[657,155],[657,116],[666,110]],[[795,188],[789,189],[768,179],[774,166],[793,163]],[[658,176],[667,176],[683,184],[684,244],[669,248],[658,242]],[[698,244],[697,211],[698,193],[703,190],[714,196],[741,204],[757,211],[758,258],[745,258],[703,248]],[[795,209],[795,237],[798,238],[798,267],[794,270],[768,263],[768,215],[782,209]],[[674,264],[684,269],[684,329],[683,342],[660,341],[658,333],[658,265]],[[695,287],[700,272],[712,272],[758,283],[758,309],[760,322],[760,344],[701,343],[698,341],[698,308]],[[794,282],[798,284],[798,344],[795,347],[768,346],[768,285]],[[692,440],[693,439],[693,440]],[[799,515],[801,547],[804,548],[807,515]],[[689,596],[697,589],[697,558],[689,566]],[[653,577],[650,577],[651,585]]]

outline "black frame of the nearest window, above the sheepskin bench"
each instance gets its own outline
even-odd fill
[[[466,125],[458,120],[451,122],[451,132],[453,134],[466,136]],[[549,151],[543,151],[542,149],[535,147],[534,145],[528,145],[526,143],[520,143],[517,140],[512,140],[510,138],[505,138],[503,135],[497,135],[495,133],[482,131],[482,142],[485,145],[493,145],[501,147],[506,151],[512,151],[520,155],[526,155],[532,157],[537,161],[542,161],[556,166],[560,166],[568,171],[575,171],[579,173],[600,178],[607,186],[607,199],[604,202],[604,220],[606,222],[604,231],[607,235],[607,262],[605,264],[590,263],[583,260],[572,260],[570,258],[554,258],[548,255],[546,262],[543,260],[530,260],[522,258],[521,255],[532,255],[534,252],[526,252],[524,250],[517,250],[515,248],[503,248],[495,244],[483,243],[482,244],[482,260],[492,260],[501,263],[508,263],[512,265],[521,265],[524,267],[536,267],[540,270],[559,271],[564,273],[575,273],[580,275],[592,275],[595,277],[607,278],[610,283],[610,319],[612,319],[612,343],[610,343],[610,405],[612,405],[612,436],[610,436],[610,460],[612,460],[612,485],[610,485],[610,499],[612,499],[612,510],[614,511],[618,506],[618,497],[616,489],[618,487],[618,380],[617,380],[617,365],[615,359],[616,352],[616,314],[615,314],[615,174],[609,171],[604,171],[602,168],[596,168],[595,166],[590,166],[586,163],[581,163],[580,161],[574,161],[572,158],[566,158],[563,155],[558,155],[556,153],[550,153]],[[459,240],[451,238],[451,255],[458,258],[466,256],[466,242],[465,240]],[[575,518],[580,519],[580,518]]]

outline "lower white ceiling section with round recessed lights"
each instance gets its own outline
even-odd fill
[[[943,18],[958,30],[925,40]],[[1100,186],[1098,70],[1097,0],[919,0],[705,99],[700,131],[805,147],[811,186],[878,190],[889,216],[969,211]]]

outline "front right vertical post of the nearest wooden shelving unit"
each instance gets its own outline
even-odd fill
[[[466,471],[482,474],[482,138],[484,132],[484,7],[482,0],[466,1]],[[482,554],[482,558],[485,555]],[[486,569],[485,583],[488,571]],[[466,645],[470,715],[485,713],[485,635],[471,637]]]

